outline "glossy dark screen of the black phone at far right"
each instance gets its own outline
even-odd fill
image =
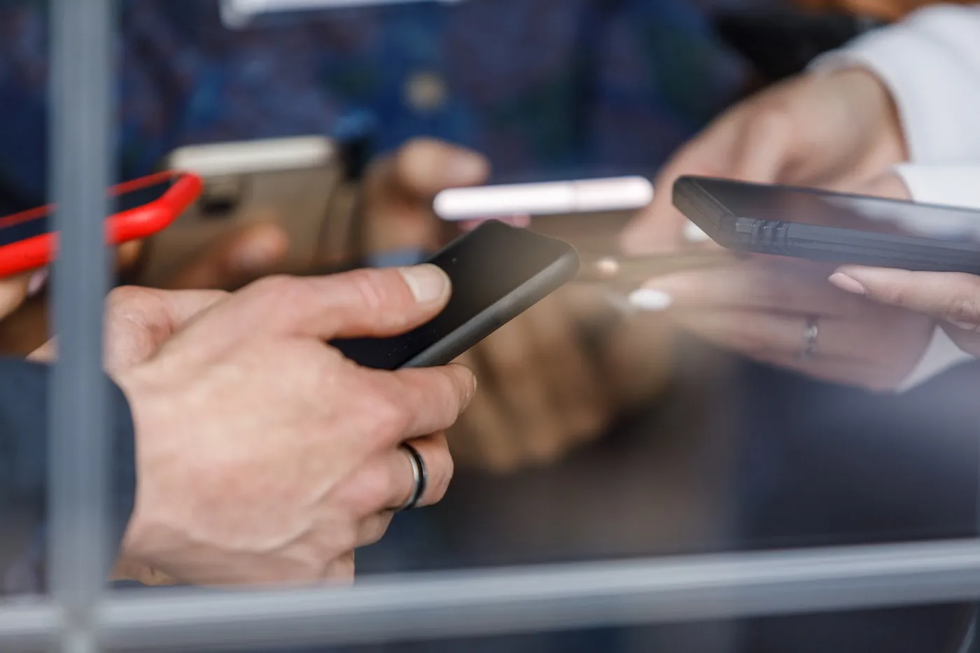
[[[806,188],[698,178],[738,218],[980,244],[980,212]]]

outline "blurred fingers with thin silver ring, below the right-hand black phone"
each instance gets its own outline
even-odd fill
[[[932,320],[827,282],[823,263],[759,257],[647,283],[679,326],[724,349],[812,377],[894,389],[929,344]],[[669,298],[667,300],[667,298]],[[807,355],[809,321],[815,351]]]

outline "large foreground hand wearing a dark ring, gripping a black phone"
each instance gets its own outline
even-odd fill
[[[120,305],[126,292],[146,297],[124,291]],[[146,302],[117,323],[144,333],[113,372],[137,432],[127,560],[194,583],[350,578],[354,549],[379,538],[412,491],[405,441],[428,467],[422,504],[442,497],[452,459],[439,433],[466,407],[472,375],[370,371],[323,343],[430,320],[449,296],[441,271],[270,277],[232,295],[158,296],[178,299]],[[179,327],[195,306],[207,308]]]

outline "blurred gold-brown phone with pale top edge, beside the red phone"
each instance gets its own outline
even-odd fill
[[[289,235],[282,272],[317,263],[335,190],[344,180],[336,143],[322,136],[193,145],[174,150],[166,170],[196,173],[200,199],[147,242],[139,282],[159,286],[216,238],[274,218]]]

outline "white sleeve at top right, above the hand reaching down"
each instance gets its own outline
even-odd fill
[[[933,5],[817,58],[860,66],[889,88],[917,164],[980,163],[980,6]]]

